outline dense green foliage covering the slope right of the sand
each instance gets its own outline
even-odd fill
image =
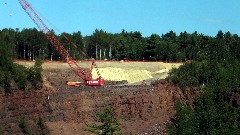
[[[175,69],[170,80],[178,85],[202,87],[194,109],[177,103],[175,119],[168,125],[169,134],[239,134],[240,132],[240,61],[230,58],[216,58],[185,64]],[[195,78],[196,84],[191,84]],[[180,82],[183,81],[183,82]]]

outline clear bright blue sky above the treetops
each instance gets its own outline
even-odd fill
[[[174,31],[240,35],[240,0],[27,0],[55,32],[92,35],[139,31],[144,37]],[[50,22],[50,23],[49,23]],[[53,25],[51,25],[53,24]],[[18,0],[0,0],[0,29],[37,28]],[[56,27],[57,29],[55,29]]]

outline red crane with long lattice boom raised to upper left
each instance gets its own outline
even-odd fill
[[[52,31],[49,30],[47,25],[42,21],[36,11],[33,9],[31,4],[27,0],[18,0],[24,11],[28,14],[28,16],[33,20],[33,22],[37,25],[37,27],[42,31],[46,36],[49,42],[54,46],[56,51],[60,54],[60,56],[67,61],[68,65],[74,71],[74,73],[79,76],[84,82],[84,85],[88,86],[102,86],[104,85],[104,79],[101,77],[99,71],[97,70],[98,78],[93,80],[92,79],[92,69],[96,66],[95,60],[92,59],[92,65],[90,67],[89,74],[85,72],[85,69],[81,68],[77,61],[70,56],[68,51],[64,48],[64,46],[60,43],[58,38],[54,35]],[[84,52],[82,52],[86,55]],[[68,85],[72,85],[74,83],[67,83]],[[76,82],[78,85],[79,83]]]

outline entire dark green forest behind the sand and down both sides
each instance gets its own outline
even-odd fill
[[[83,51],[96,60],[184,62],[170,72],[167,81],[182,91],[194,87],[200,95],[193,105],[177,102],[177,113],[167,126],[168,133],[240,133],[240,37],[237,34],[219,30],[216,36],[185,31],[177,35],[169,31],[143,37],[138,31],[112,34],[96,29],[90,36],[82,36],[80,31],[56,36],[76,60],[88,59],[82,55]],[[35,28],[0,30],[0,86],[5,90],[9,90],[12,78],[22,89],[27,82],[37,86],[41,82],[40,58],[62,60],[42,32]],[[26,69],[13,64],[13,59],[37,60],[38,64]]]

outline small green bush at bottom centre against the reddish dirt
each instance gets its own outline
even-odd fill
[[[113,117],[113,109],[106,107],[103,112],[96,114],[98,124],[91,124],[85,128],[85,131],[97,135],[121,135],[120,123]]]

